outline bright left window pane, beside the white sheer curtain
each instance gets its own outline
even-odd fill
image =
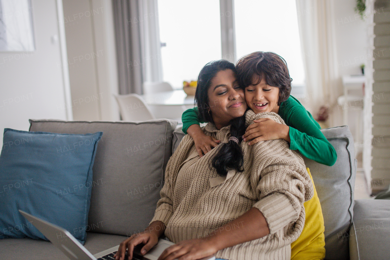
[[[158,0],[163,80],[174,88],[197,80],[209,61],[221,59],[219,0]]]

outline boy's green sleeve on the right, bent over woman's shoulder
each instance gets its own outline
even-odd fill
[[[298,150],[305,157],[320,164],[332,166],[337,160],[337,153],[332,144],[320,131],[319,124],[302,105],[289,107],[285,118],[290,127],[290,149]]]

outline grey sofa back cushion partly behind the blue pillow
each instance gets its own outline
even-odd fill
[[[131,235],[148,226],[160,199],[176,121],[30,123],[32,131],[104,132],[93,167],[89,226],[101,223],[94,232],[118,235]]]

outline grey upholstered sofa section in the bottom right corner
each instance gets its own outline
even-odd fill
[[[390,201],[357,199],[349,233],[351,260],[389,259]]]

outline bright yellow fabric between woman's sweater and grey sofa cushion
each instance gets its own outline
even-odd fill
[[[310,169],[306,168],[314,186]],[[301,235],[296,241],[291,243],[291,259],[294,260],[314,260],[325,257],[325,236],[324,217],[321,205],[314,186],[313,198],[303,203],[305,206],[305,226]]]

